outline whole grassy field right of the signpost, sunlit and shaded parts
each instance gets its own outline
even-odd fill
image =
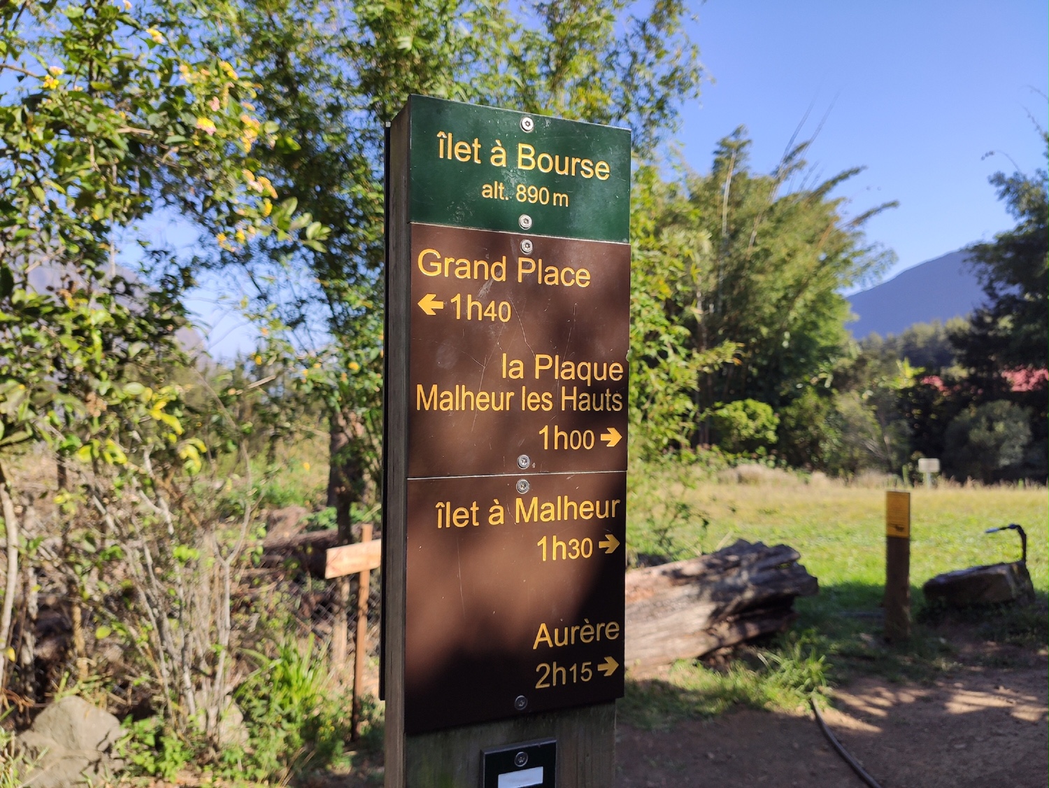
[[[745,480],[741,483],[740,476]],[[827,683],[857,674],[927,681],[973,660],[1008,662],[1016,648],[966,648],[962,640],[1019,649],[1049,645],[1049,490],[992,487],[913,489],[911,579],[914,637],[901,646],[881,638],[885,486],[847,486],[826,478],[761,469],[721,478],[695,470],[635,472],[627,539],[635,559],[685,558],[737,538],[787,544],[819,578],[816,597],[799,599],[792,633],[744,651],[727,668],[680,662],[658,680],[635,681],[627,719],[659,725],[680,716],[709,716],[731,703],[793,707]],[[1021,524],[1039,604],[944,616],[926,608],[922,583],[941,572],[1015,560]]]

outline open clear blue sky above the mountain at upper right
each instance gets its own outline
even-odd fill
[[[1028,111],[1049,127],[1047,0],[709,0],[697,16],[714,81],[685,108],[686,161],[709,169],[742,124],[768,172],[806,112],[801,139],[826,116],[810,163],[868,168],[841,190],[857,213],[900,203],[868,225],[898,255],[890,276],[1012,226],[987,183],[1015,169],[1005,154],[1046,166]]]

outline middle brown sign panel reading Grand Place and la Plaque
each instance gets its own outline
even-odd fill
[[[625,469],[628,244],[412,225],[411,261],[410,477]]]

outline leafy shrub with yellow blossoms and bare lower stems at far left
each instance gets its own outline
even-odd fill
[[[18,558],[29,550],[19,538],[10,462],[20,447],[43,445],[58,467],[59,557],[80,677],[82,603],[109,593],[105,565],[127,556],[140,613],[151,620],[129,640],[152,649],[164,701],[185,720],[199,688],[189,664],[197,655],[176,642],[187,637],[191,600],[185,584],[164,583],[192,558],[181,537],[193,531],[176,529],[169,505],[172,485],[207,461],[187,430],[183,390],[166,380],[185,368],[175,332],[189,282],[178,269],[157,272],[148,286],[120,273],[120,242],[172,205],[191,206],[219,243],[297,233],[291,206],[275,207],[250,155],[276,131],[254,113],[253,84],[198,50],[178,20],[143,20],[130,8],[108,0],[0,7],[0,513],[8,558],[0,687]],[[142,562],[131,558],[137,550],[147,553]],[[210,557],[226,572],[227,602],[232,555]],[[214,680],[211,708],[226,695],[228,634],[194,662]]]

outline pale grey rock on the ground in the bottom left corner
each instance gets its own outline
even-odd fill
[[[67,788],[112,774],[121,764],[107,753],[120,737],[120,721],[83,698],[50,704],[17,739],[33,764],[23,786]]]

